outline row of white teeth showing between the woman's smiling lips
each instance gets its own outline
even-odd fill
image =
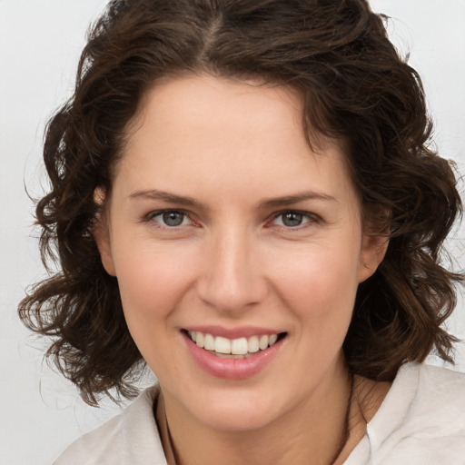
[[[286,332],[262,334],[249,338],[227,339],[201,331],[184,331],[198,347],[223,359],[247,359],[272,347],[286,337]]]

